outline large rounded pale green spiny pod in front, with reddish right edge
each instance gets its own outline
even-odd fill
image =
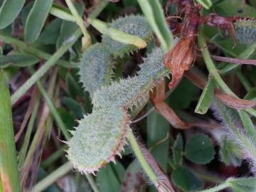
[[[114,156],[121,156],[129,132],[129,114],[124,108],[97,110],[79,121],[68,144],[68,159],[83,174],[98,171]]]

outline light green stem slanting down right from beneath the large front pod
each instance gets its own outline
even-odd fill
[[[137,140],[134,137],[134,134],[132,133],[132,130],[129,131],[128,140],[132,146],[132,150],[134,151],[134,154],[137,156],[137,159],[139,160],[139,163],[142,165],[142,168],[144,169],[146,175],[149,176],[149,179],[152,181],[152,183],[156,185],[156,183],[158,182],[158,178],[154,173],[154,171],[149,166],[144,155],[142,154],[142,149],[140,149],[139,144],[137,143]]]

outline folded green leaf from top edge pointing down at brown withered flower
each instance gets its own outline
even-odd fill
[[[151,28],[156,33],[165,52],[174,46],[174,38],[164,18],[164,11],[159,0],[138,0],[143,14],[146,16]]]

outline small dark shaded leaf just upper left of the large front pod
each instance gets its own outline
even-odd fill
[[[73,114],[75,114],[75,117],[77,117],[78,119],[82,119],[83,114],[82,114],[82,107],[81,107],[80,103],[78,103],[75,100],[68,98],[68,97],[64,97],[62,99],[62,102],[64,103],[64,105],[66,107],[68,107],[68,109],[71,112],[73,112]]]

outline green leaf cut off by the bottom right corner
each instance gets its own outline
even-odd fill
[[[255,192],[256,190],[256,177],[228,178],[227,182],[233,192]]]

